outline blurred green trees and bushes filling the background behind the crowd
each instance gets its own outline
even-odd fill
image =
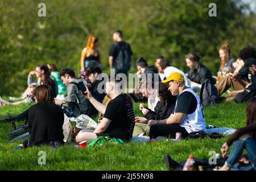
[[[208,15],[212,2],[216,17]],[[256,15],[243,13],[240,0],[46,0],[46,17],[38,16],[39,3],[0,2],[0,96],[19,96],[38,63],[71,67],[78,75],[89,34],[99,38],[106,73],[112,33],[118,29],[133,49],[134,73],[138,57],[154,64],[157,55],[187,72],[184,56],[197,52],[216,75],[221,44],[229,43],[233,57],[246,44],[256,45]]]

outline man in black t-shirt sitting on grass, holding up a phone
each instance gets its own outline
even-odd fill
[[[86,86],[85,98],[100,113],[104,114],[104,117],[93,133],[81,130],[76,136],[77,143],[86,140],[89,144],[97,137],[106,136],[122,140],[131,139],[135,125],[133,103],[127,94],[122,93],[121,81],[118,80],[120,79],[109,77],[108,81],[106,81],[106,94],[112,99],[108,106],[98,102]]]

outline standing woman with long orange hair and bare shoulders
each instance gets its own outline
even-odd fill
[[[81,72],[84,72],[88,67],[89,61],[98,61],[100,63],[100,51],[96,48],[98,47],[98,38],[94,35],[90,35],[86,44],[86,47],[82,49],[81,53]]]

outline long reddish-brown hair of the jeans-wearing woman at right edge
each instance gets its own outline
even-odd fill
[[[256,97],[248,102],[246,105],[246,125],[251,125],[256,122]],[[251,136],[256,139],[256,131],[250,133]]]

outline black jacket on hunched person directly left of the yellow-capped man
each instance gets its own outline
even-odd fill
[[[163,102],[158,102],[154,108],[155,111],[148,109],[149,111],[145,115],[145,118],[150,120],[167,119],[172,114],[175,108],[175,103],[164,105]]]

